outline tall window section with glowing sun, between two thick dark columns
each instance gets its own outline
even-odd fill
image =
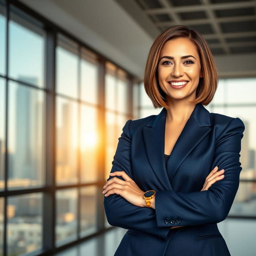
[[[56,47],[55,180],[58,185],[56,246],[98,231],[96,219],[93,216],[98,214],[95,206],[96,183],[100,180],[97,128],[99,66],[96,54],[63,34],[58,34]],[[93,185],[86,185],[90,183]]]

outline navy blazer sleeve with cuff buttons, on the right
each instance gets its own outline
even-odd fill
[[[224,178],[212,184],[208,190],[188,193],[156,191],[158,227],[218,223],[227,217],[239,186],[242,170],[239,153],[244,129],[240,118],[232,118],[216,139],[211,170],[215,166],[218,166],[218,170],[224,169]],[[180,224],[165,221],[172,218],[180,218]]]

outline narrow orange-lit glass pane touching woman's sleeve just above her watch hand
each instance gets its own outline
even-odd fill
[[[105,180],[109,178],[110,170],[112,168],[112,161],[118,144],[116,137],[116,116],[112,112],[106,112],[106,176]]]

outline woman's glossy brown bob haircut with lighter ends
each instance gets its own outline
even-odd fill
[[[162,32],[156,38],[148,53],[144,72],[144,88],[154,108],[169,108],[166,102],[166,94],[159,85],[157,67],[160,52],[165,42],[178,37],[188,38],[195,44],[203,72],[203,77],[199,79],[196,89],[196,99],[190,102],[208,105],[216,92],[218,86],[218,72],[207,42],[196,30],[189,29],[182,25],[173,26]]]

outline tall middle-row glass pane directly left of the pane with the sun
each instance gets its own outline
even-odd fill
[[[78,104],[56,97],[56,183],[78,182]]]

